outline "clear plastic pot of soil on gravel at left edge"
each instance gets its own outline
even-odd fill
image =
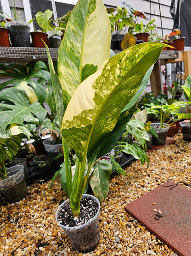
[[[5,197],[6,202],[18,202],[22,200],[28,192],[27,183],[24,178],[24,168],[16,165],[7,168],[7,179],[0,181],[0,192]]]

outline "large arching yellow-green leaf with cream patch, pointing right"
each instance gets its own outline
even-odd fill
[[[76,89],[63,118],[62,136],[80,160],[114,129],[163,47],[149,42],[128,48],[105,61]]]

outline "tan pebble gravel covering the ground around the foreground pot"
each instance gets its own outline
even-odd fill
[[[22,201],[0,206],[0,256],[177,255],[124,210],[126,204],[168,179],[191,184],[191,143],[180,132],[174,139],[175,144],[148,153],[148,169],[134,161],[124,169],[127,176],[112,175],[109,195],[101,204],[101,237],[96,250],[86,254],[72,251],[57,226],[56,209],[67,198],[57,179],[49,191],[50,181],[36,182]]]

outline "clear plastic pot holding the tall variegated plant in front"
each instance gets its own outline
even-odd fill
[[[99,226],[99,213],[100,213],[100,202],[95,196],[83,195],[84,197],[91,197],[94,201],[97,202],[99,209],[96,215],[88,222],[80,226],[63,226],[58,221],[58,214],[61,211],[62,205],[69,202],[69,199],[62,202],[59,208],[56,211],[56,221],[60,225],[64,232],[67,235],[67,238],[70,240],[73,249],[78,250],[79,252],[90,252],[95,250],[99,244],[100,239],[100,226]]]

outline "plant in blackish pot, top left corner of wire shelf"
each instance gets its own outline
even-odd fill
[[[5,27],[9,29],[9,35],[11,39],[11,45],[13,47],[30,47],[30,24],[28,22],[23,22],[19,18],[19,12],[17,12],[16,6],[12,4],[12,11],[14,15],[14,21],[9,15],[1,12],[1,16],[5,18]],[[7,19],[7,17],[9,19]]]

